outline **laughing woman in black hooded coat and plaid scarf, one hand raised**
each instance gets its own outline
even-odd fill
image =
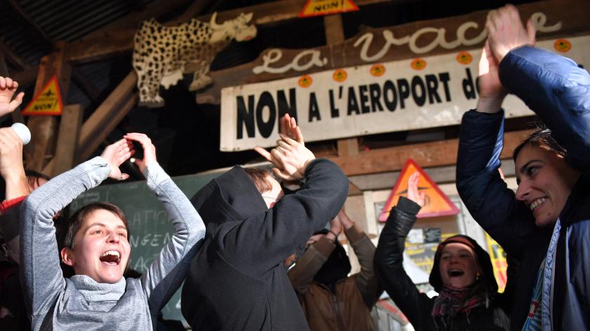
[[[495,301],[498,285],[490,255],[468,236],[452,236],[438,245],[429,281],[438,297],[417,290],[402,262],[405,238],[424,205],[419,174],[409,177],[381,231],[375,271],[389,297],[415,330],[509,330],[509,319]]]

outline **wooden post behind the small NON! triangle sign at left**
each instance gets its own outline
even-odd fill
[[[70,65],[65,62],[65,42],[57,43],[55,53],[41,58],[37,83],[35,83],[34,95],[37,95],[44,88],[45,84],[53,77],[58,77],[61,95],[67,100],[67,90],[70,87]],[[27,168],[43,171],[46,165],[46,155],[53,154],[55,149],[55,131],[58,120],[55,116],[31,116],[27,122],[31,130],[31,143],[25,149]]]

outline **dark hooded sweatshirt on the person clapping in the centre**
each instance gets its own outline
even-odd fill
[[[268,209],[244,170],[232,168],[192,198],[206,239],[182,293],[193,330],[308,330],[282,262],[339,212],[348,179],[327,159]]]

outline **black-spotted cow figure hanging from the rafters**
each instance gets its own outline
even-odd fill
[[[241,13],[218,24],[214,13],[208,23],[193,18],[176,27],[166,27],[153,18],[141,22],[133,39],[139,104],[164,106],[159,86],[168,89],[183,79],[183,74],[194,73],[189,90],[199,90],[212,83],[208,74],[215,55],[232,39],[247,41],[256,36],[256,26],[248,24],[252,15]]]

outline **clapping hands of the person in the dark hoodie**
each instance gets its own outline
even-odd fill
[[[273,171],[282,180],[303,180],[306,168],[315,156],[300,142],[286,135],[280,137],[277,147],[271,149],[270,153],[261,147],[254,147],[254,150],[275,165]]]

